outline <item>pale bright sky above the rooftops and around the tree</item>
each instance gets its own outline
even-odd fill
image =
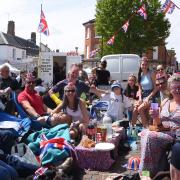
[[[164,2],[165,0],[162,0]],[[15,21],[15,34],[30,39],[31,32],[37,32],[40,6],[49,26],[50,36],[42,35],[42,42],[52,49],[71,51],[79,47],[84,51],[84,22],[95,15],[96,0],[1,0],[0,31],[7,31],[8,20]],[[180,1],[173,0],[179,7]],[[170,37],[166,40],[169,49],[174,48],[180,62],[180,10],[167,15],[171,22]],[[39,34],[37,33],[37,42]]]

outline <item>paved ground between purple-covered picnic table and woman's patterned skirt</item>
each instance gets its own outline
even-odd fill
[[[113,164],[113,166],[110,168],[109,171],[100,172],[100,171],[85,170],[82,179],[83,180],[118,180],[120,179],[121,175],[135,173],[130,170],[127,170],[127,168],[123,167],[123,165],[127,164],[128,159],[134,155],[140,157],[140,139],[137,140],[136,144],[137,147],[131,149],[130,151],[121,152],[120,150],[116,162]]]

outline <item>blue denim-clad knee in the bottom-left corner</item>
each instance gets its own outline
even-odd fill
[[[16,170],[0,160],[0,177],[3,180],[18,180],[18,174]]]

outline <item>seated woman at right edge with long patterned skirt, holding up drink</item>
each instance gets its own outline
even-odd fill
[[[165,99],[161,104],[159,111],[151,110],[150,113],[157,127],[169,128],[169,131],[156,132],[144,130],[141,133],[141,170],[150,171],[154,176],[158,171],[164,170],[162,167],[163,157],[167,146],[173,144],[177,130],[180,128],[180,74],[173,74],[168,80],[168,88],[171,97]],[[159,129],[160,130],[160,129]],[[175,147],[176,148],[176,147]],[[177,154],[180,148],[176,148]],[[172,156],[173,174],[180,172],[179,164]],[[173,179],[174,180],[174,179]]]

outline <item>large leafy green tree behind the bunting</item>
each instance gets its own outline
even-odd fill
[[[96,5],[95,28],[102,36],[101,54],[136,53],[142,54],[148,48],[162,45],[169,36],[170,22],[161,12],[159,0],[144,0],[147,20],[137,14],[142,6],[140,0],[98,0]],[[125,33],[122,29],[129,19]],[[107,41],[117,33],[114,45]]]

